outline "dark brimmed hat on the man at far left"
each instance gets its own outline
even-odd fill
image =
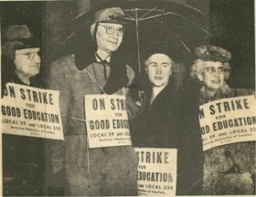
[[[15,59],[16,49],[38,48],[39,43],[26,25],[8,26],[3,30],[2,54],[10,60]]]

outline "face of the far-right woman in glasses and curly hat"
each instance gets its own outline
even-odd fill
[[[198,75],[204,86],[209,91],[217,91],[224,85],[224,67],[219,61],[205,61],[205,68]]]

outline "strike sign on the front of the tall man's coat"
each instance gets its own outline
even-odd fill
[[[125,96],[84,96],[90,148],[131,145]]]

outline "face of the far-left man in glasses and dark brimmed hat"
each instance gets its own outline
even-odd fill
[[[41,58],[39,48],[15,50],[15,72],[24,77],[33,77],[40,72]]]

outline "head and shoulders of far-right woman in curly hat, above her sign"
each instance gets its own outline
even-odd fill
[[[232,89],[225,82],[225,65],[232,55],[218,46],[203,45],[195,49],[196,59],[190,67],[190,76],[201,84],[200,104],[220,98],[253,95],[252,90]]]

